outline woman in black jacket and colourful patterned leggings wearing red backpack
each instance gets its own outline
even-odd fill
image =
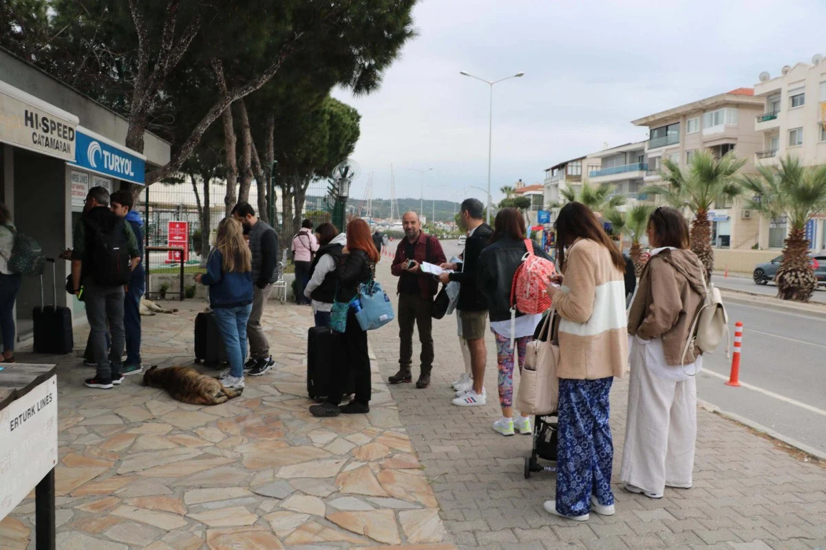
[[[496,229],[491,237],[491,245],[479,256],[478,286],[487,299],[487,313],[491,319],[491,331],[496,337],[496,363],[499,367],[499,404],[502,417],[493,423],[493,429],[501,435],[514,435],[514,429],[520,434],[530,434],[529,416],[520,415],[513,418],[513,374],[514,350],[510,346],[511,337],[515,337],[515,346],[519,350],[519,369],[525,364],[525,346],[534,338],[534,331],[542,314],[525,315],[516,312],[515,327],[511,332],[510,324],[510,287],[513,284],[516,269],[522,263],[522,256],[528,251],[525,246],[525,219],[515,208],[501,209],[496,214]],[[531,241],[534,254],[548,261],[539,242]]]

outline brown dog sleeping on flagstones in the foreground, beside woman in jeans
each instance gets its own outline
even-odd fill
[[[178,401],[191,405],[220,405],[244,391],[224,388],[215,378],[201,374],[192,367],[159,369],[157,364],[145,372],[144,385],[165,389]]]

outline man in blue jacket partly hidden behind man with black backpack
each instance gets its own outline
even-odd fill
[[[140,214],[132,209],[132,194],[122,189],[112,193],[110,200],[112,212],[118,217],[126,219],[132,233],[135,233],[135,242],[138,246],[138,256],[144,257],[144,221]],[[129,284],[126,285],[126,296],[123,300],[123,328],[126,331],[126,363],[123,365],[124,376],[140,374],[144,365],[140,360],[140,298],[146,289],[146,271],[144,264],[139,261],[132,270]]]

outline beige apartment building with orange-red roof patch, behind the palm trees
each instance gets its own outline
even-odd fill
[[[764,107],[765,100],[754,96],[752,88],[737,88],[632,120],[634,125],[648,127],[649,132],[644,184],[662,183],[659,171],[665,159],[685,168],[701,149],[710,149],[718,157],[733,151],[747,159],[742,171],[754,172],[757,152],[764,148],[763,136],[755,128]],[[760,217],[738,202],[720,201],[709,213],[717,247],[751,248],[759,240]]]

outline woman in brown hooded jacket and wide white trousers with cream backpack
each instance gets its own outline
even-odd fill
[[[695,374],[703,358],[690,331],[705,297],[705,270],[688,250],[688,226],[676,209],[654,210],[648,242],[654,249],[629,311],[631,377],[620,481],[656,499],[665,487],[692,483]]]

